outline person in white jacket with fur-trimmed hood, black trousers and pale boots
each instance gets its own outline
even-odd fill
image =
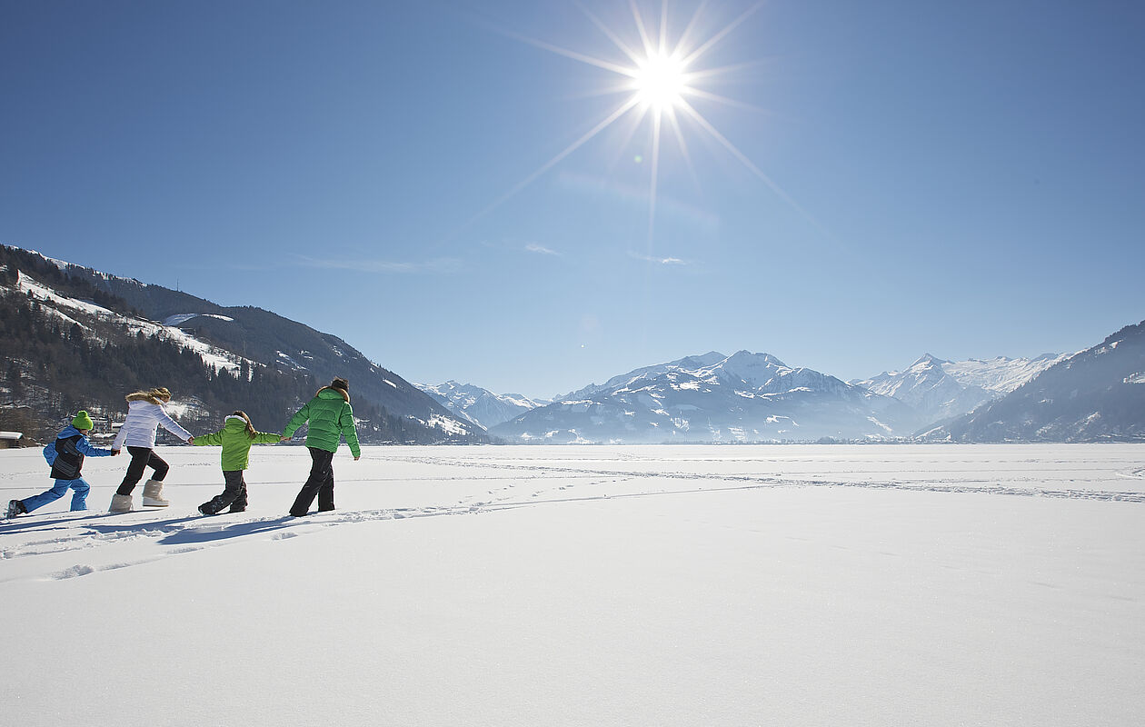
[[[132,511],[132,490],[143,479],[143,472],[147,467],[151,467],[155,473],[150,480],[143,483],[143,506],[166,507],[171,505],[163,499],[163,479],[167,476],[169,466],[155,453],[156,429],[163,425],[164,429],[188,444],[195,437],[167,414],[163,405],[169,401],[171,392],[164,387],[127,395],[127,419],[124,420],[124,426],[119,427],[119,434],[111,443],[111,449],[119,452],[123,445],[127,444],[127,451],[132,455],[132,464],[127,467],[127,475],[124,476],[119,490],[111,498],[109,512],[129,513]]]

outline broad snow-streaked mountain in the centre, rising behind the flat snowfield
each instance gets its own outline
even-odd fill
[[[890,440],[923,424],[902,402],[768,354],[711,351],[630,371],[493,427],[514,442]]]

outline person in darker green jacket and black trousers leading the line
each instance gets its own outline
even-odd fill
[[[283,440],[289,440],[303,422],[310,422],[306,434],[306,445],[310,450],[310,476],[291,505],[290,514],[294,517],[301,517],[310,509],[315,495],[318,496],[319,513],[334,508],[333,459],[344,435],[354,460],[362,457],[349,389],[346,379],[334,379],[330,386],[318,389],[283,429]]]

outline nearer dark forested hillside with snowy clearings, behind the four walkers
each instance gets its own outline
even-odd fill
[[[30,285],[64,298],[33,294],[24,290]],[[147,321],[87,277],[0,246],[0,429],[23,432],[25,443],[47,441],[77,409],[88,410],[97,429],[105,428],[126,413],[127,393],[166,386],[180,424],[192,433],[219,428],[236,409],[246,411],[256,428],[278,432],[327,382],[291,365],[238,355],[230,356],[230,365],[212,365],[168,332],[180,331]],[[364,442],[442,438],[368,397],[353,403]]]

